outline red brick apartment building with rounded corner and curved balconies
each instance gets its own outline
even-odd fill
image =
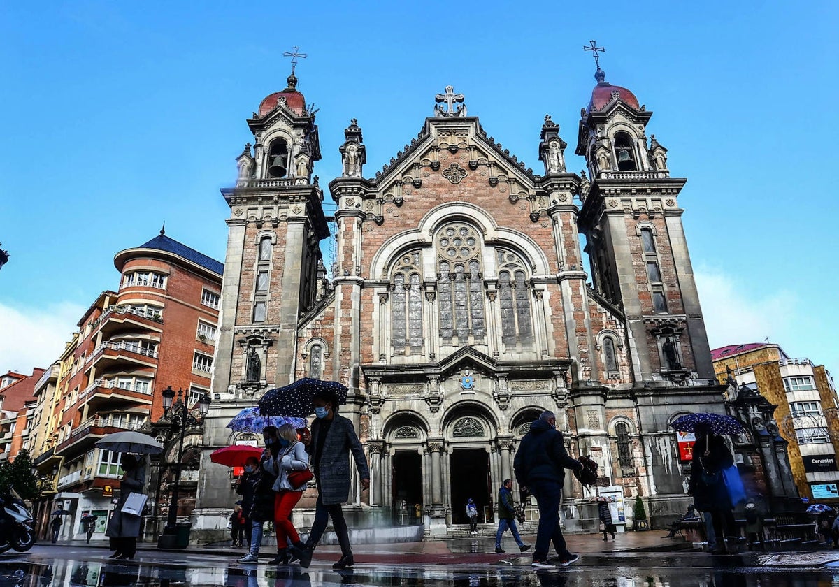
[[[95,449],[96,440],[150,429],[164,414],[160,392],[167,386],[182,389],[190,406],[210,391],[221,263],[161,231],[118,252],[114,265],[119,287],[102,292],[81,316],[58,361],[54,397],[38,402],[45,422],[36,443],[39,472],[49,476],[58,467],[54,502],[45,503],[41,515],[55,506],[73,512],[65,538],[81,532],[85,512],[96,514],[97,531],[104,532],[112,509],[120,459]]]

